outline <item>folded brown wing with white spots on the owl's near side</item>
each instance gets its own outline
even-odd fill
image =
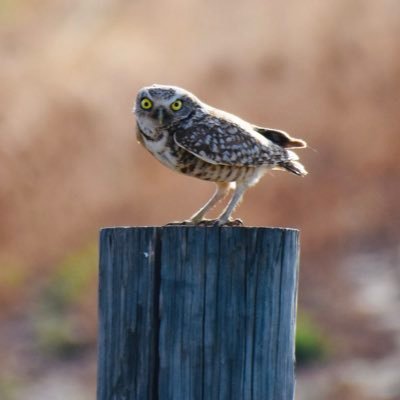
[[[260,134],[215,118],[178,128],[174,140],[178,146],[211,164],[275,165],[289,158],[286,150]]]

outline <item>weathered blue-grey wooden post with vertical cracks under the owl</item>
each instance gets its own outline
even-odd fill
[[[107,228],[98,400],[292,400],[298,231]]]

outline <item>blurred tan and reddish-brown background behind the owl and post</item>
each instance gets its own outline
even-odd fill
[[[2,400],[94,399],[99,229],[214,190],[136,143],[152,83],[309,143],[236,212],[301,229],[296,399],[400,399],[398,0],[0,0],[0,34]]]

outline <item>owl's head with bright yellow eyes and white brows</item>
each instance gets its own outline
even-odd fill
[[[133,112],[139,126],[149,132],[190,117],[198,107],[201,102],[185,89],[152,85],[139,90]]]

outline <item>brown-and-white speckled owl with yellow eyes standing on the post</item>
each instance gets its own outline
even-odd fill
[[[244,192],[269,169],[307,174],[297,154],[287,150],[306,147],[303,140],[250,124],[179,87],[144,87],[137,94],[134,113],[139,142],[161,163],[217,184],[211,199],[186,223],[207,224],[207,211],[230,190],[234,193],[227,207],[209,222],[234,223],[230,217]]]

